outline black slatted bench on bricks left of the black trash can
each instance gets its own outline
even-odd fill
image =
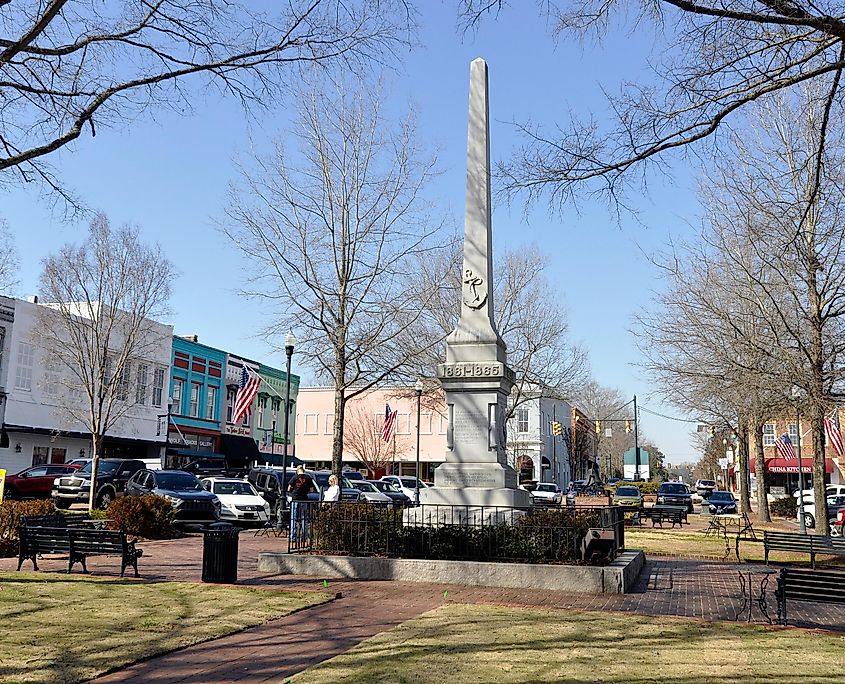
[[[20,551],[18,552],[18,570],[27,559],[38,570],[37,558],[44,553],[66,553],[68,555],[67,572],[73,570],[76,563],[82,564],[82,570],[88,572],[88,556],[117,556],[121,558],[120,576],[126,568],[135,570],[138,575],[138,559],[143,550],[135,547],[135,541],[129,541],[126,533],[112,530],[93,530],[79,527],[37,527],[32,524],[18,528]]]

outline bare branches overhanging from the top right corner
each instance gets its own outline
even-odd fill
[[[498,15],[507,0],[462,0],[465,26]],[[508,190],[529,199],[548,194],[562,204],[589,188],[619,198],[631,182],[644,180],[673,152],[697,143],[718,143],[717,133],[749,105],[805,83],[823,92],[828,112],[813,153],[821,163],[825,129],[841,119],[845,19],[835,3],[739,0],[538,0],[557,39],[604,37],[632,21],[641,32],[651,24],[656,51],[647,82],[607,87],[607,127],[593,116],[570,117],[557,126],[519,125],[522,149],[500,171]],[[522,5],[520,11],[524,11]],[[611,39],[616,40],[615,36]],[[692,151],[690,149],[690,151]],[[701,152],[701,149],[697,150]],[[638,173],[639,172],[639,173]],[[643,175],[639,175],[643,174]],[[816,190],[818,186],[815,186]]]

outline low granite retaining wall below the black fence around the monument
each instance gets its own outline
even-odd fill
[[[631,550],[610,565],[537,565],[473,561],[309,556],[260,553],[258,570],[279,575],[309,575],[336,579],[432,582],[515,589],[549,589],[584,594],[624,594],[631,591],[645,555]]]

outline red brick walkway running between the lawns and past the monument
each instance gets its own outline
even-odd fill
[[[198,581],[202,539],[145,542],[140,562],[146,580]],[[273,589],[323,591],[322,578],[262,576],[259,551],[282,551],[283,539],[241,535],[239,583]],[[115,574],[113,558],[92,558],[94,574]],[[16,567],[0,559],[0,569]],[[61,571],[66,561],[45,559],[45,571]],[[25,566],[26,567],[26,566]],[[762,567],[744,565],[744,571]],[[445,602],[498,604],[548,609],[612,610],[646,615],[677,615],[707,620],[733,620],[739,609],[740,566],[716,561],[651,558],[630,594],[571,594],[531,589],[498,589],[400,582],[329,580],[328,591],[342,598],[281,620],[205,644],[175,651],[107,675],[101,682],[266,682],[282,681],[309,665],[343,653],[361,640],[420,615]],[[769,586],[774,617],[774,578]],[[444,591],[448,596],[444,597]],[[755,619],[758,613],[755,606]],[[795,603],[790,623],[845,631],[841,606]]]

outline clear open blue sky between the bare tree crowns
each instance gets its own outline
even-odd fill
[[[403,56],[390,75],[391,107],[417,110],[423,139],[440,149],[444,173],[432,188],[460,225],[464,203],[466,110],[469,63],[487,60],[490,77],[492,155],[507,157],[518,144],[510,124],[531,119],[564,121],[577,115],[604,116],[601,86],[649,77],[656,42],[647,31],[617,27],[603,45],[555,45],[541,17],[505,10],[475,33],[456,28],[452,2],[428,5],[421,15],[421,47]],[[185,116],[158,112],[120,129],[99,128],[73,149],[54,156],[60,176],[94,209],[114,223],[141,227],[158,241],[181,276],[174,288],[172,322],[179,334],[281,365],[257,337],[260,305],[237,294],[243,263],[216,228],[233,159],[250,147],[265,148],[287,123],[283,105],[249,123],[233,102],[198,101]],[[493,232],[499,246],[535,242],[550,255],[552,286],[567,303],[573,338],[590,352],[595,378],[662,413],[675,412],[649,400],[654,389],[631,364],[638,353],[631,316],[649,306],[657,284],[643,254],[660,249],[667,235],[683,233],[697,212],[694,174],[683,165],[649,179],[649,194],[637,200],[638,219],[617,220],[605,205],[585,202],[551,214],[543,206],[527,215],[521,206],[497,206]],[[62,223],[37,189],[0,195],[0,216],[15,235],[23,270],[20,294],[37,291],[40,260],[68,241],[82,238],[86,224]],[[641,415],[641,429],[670,462],[695,458],[690,425]]]

